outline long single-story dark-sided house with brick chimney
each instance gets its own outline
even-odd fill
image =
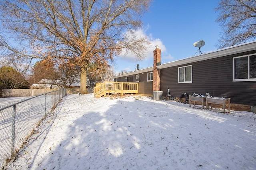
[[[114,76],[114,81],[138,82],[138,93],[179,98],[182,93],[209,93],[231,98],[231,108],[250,111],[256,105],[256,41],[195,57],[161,64],[161,50],[153,52],[153,67]]]

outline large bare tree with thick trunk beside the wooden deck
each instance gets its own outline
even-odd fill
[[[151,0],[1,0],[0,20],[19,46],[3,32],[0,46],[19,57],[60,58],[81,68],[86,94],[88,64],[107,64],[122,49],[144,57],[146,37],[134,36]],[[25,47],[24,45],[27,44]],[[20,47],[20,48],[19,48]]]

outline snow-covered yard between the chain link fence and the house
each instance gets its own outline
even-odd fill
[[[150,97],[68,95],[7,166],[255,170],[256,114],[221,111]]]

